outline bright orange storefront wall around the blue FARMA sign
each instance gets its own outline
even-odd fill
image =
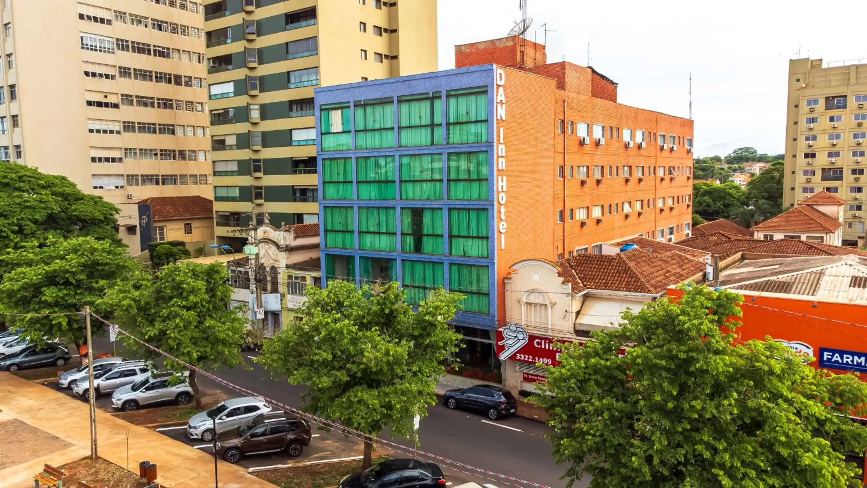
[[[681,295],[680,290],[668,290],[668,296]],[[743,325],[735,330],[740,342],[764,340],[767,335],[778,341],[801,342],[812,348],[817,361],[810,364],[815,368],[821,348],[867,353],[867,304],[745,294],[740,309]],[[851,372],[825,369],[839,374]],[[867,374],[862,374],[861,380],[867,381]]]

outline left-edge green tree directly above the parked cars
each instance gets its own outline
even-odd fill
[[[32,240],[14,253],[0,256],[7,271],[0,283],[0,310],[13,313],[80,312],[95,307],[108,290],[134,276],[140,265],[110,240],[94,237],[49,238],[41,246]],[[85,343],[81,316],[22,316],[16,325],[34,341],[60,338],[76,346]],[[102,328],[95,328],[99,334]]]

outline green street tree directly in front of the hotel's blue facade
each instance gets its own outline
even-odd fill
[[[414,416],[436,403],[442,361],[460,340],[447,322],[463,296],[433,290],[413,311],[397,283],[357,290],[330,281],[306,293],[303,321],[265,342],[257,361],[310,388],[306,411],[365,433],[366,468],[371,436],[388,427],[392,436],[408,437]]]

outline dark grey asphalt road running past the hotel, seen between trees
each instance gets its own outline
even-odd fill
[[[95,339],[95,352],[111,350],[112,346],[108,341]],[[245,354],[245,360],[249,361],[248,364],[251,366],[250,370],[241,367],[223,368],[218,369],[215,374],[225,381],[238,384],[290,407],[303,408],[300,395],[305,391],[305,387],[293,386],[280,379],[271,379],[264,368],[252,361],[252,357],[255,357],[255,353]],[[201,376],[199,376],[199,385],[236,395],[229,388]],[[449,410],[440,402],[430,407],[427,417],[421,420],[419,440],[421,451],[538,485],[561,488],[566,485],[560,479],[566,466],[556,465],[551,459],[551,444],[543,437],[550,432],[550,427],[531,420],[508,417],[491,422],[481,414]],[[342,438],[338,433],[322,433],[322,436],[337,441]],[[357,440],[345,439],[345,442],[354,444]],[[407,452],[413,451],[411,443],[406,439],[394,439],[394,442],[405,446]],[[422,455],[419,455],[419,458],[426,459]],[[442,466],[450,481],[475,481],[500,487],[531,486],[485,475],[466,467],[450,465],[440,459],[427,458],[426,460]],[[574,486],[583,488],[587,485],[589,481],[582,480]]]

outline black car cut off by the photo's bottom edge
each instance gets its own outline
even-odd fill
[[[389,459],[350,474],[337,488],[438,488],[446,485],[440,466],[417,459]]]

